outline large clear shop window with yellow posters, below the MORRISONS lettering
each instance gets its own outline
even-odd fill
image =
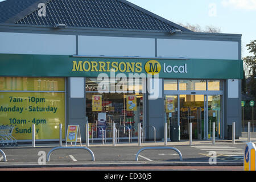
[[[115,80],[118,86],[120,80]],[[143,122],[142,81],[133,86],[128,85],[124,93],[98,92],[100,81],[97,78],[86,78],[86,117],[89,122],[89,138],[112,138],[112,125],[116,123],[119,137],[138,136],[138,123]],[[111,83],[109,83],[109,86]],[[129,92],[130,91],[130,92]],[[125,126],[125,127],[124,127]],[[128,130],[129,128],[129,130]]]

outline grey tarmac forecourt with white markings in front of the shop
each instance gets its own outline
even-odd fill
[[[80,149],[61,149],[51,153],[49,161],[47,156],[52,148],[59,147],[59,143],[36,143],[32,147],[30,143],[19,144],[17,147],[1,147],[5,152],[7,162],[4,162],[0,154],[0,168],[44,168],[44,167],[149,167],[149,166],[243,166],[243,151],[247,143],[247,133],[235,140],[218,140],[212,144],[212,140],[189,140],[180,142],[144,142],[141,146],[137,141],[132,143],[120,142],[113,146],[112,140],[102,144],[101,140],[89,143],[82,147],[89,148],[94,155],[94,161],[90,152]],[[251,142],[256,143],[256,133],[251,133]],[[65,144],[63,143],[65,147]],[[68,147],[71,147],[68,144]],[[80,147],[80,144],[77,144]],[[160,147],[157,150],[144,150],[144,147]],[[181,152],[179,154],[163,147],[174,147]]]

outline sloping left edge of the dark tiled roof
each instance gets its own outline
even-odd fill
[[[39,1],[36,1],[31,6],[29,6],[26,9],[20,11],[20,13],[14,15],[12,18],[7,19],[4,23],[16,23],[16,22],[18,22],[18,20],[23,19],[27,15],[29,15],[29,14],[33,13],[35,10],[37,10],[39,3],[47,3],[49,1],[52,1],[52,0],[39,0]]]

